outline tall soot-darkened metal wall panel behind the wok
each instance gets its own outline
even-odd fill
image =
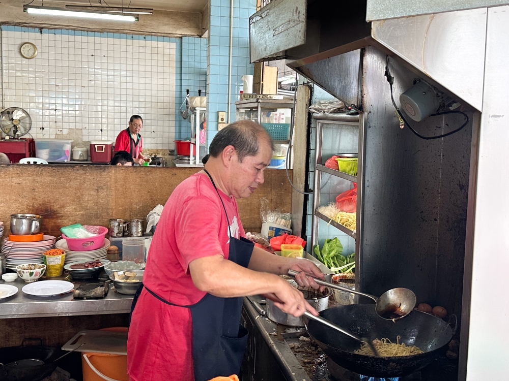
[[[381,295],[407,287],[418,303],[443,305],[459,316],[472,124],[431,141],[400,129],[383,76],[385,54],[368,47],[363,59],[359,290]],[[390,69],[395,94],[411,86],[411,71],[396,60]],[[415,128],[430,135],[449,131],[461,120],[427,118]]]

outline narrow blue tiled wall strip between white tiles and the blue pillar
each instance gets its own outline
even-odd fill
[[[202,90],[202,96],[206,96],[207,89],[207,39],[200,37],[182,37],[181,83],[177,84],[177,97],[179,106],[185,100],[186,89],[189,89],[191,97],[198,95]],[[179,52],[177,51],[179,61]],[[179,87],[180,85],[180,87]],[[182,107],[184,108],[185,105]],[[191,124],[182,119],[180,112],[176,115],[175,139],[185,139],[191,136]]]

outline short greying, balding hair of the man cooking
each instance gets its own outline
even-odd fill
[[[217,133],[210,143],[209,154],[217,157],[224,148],[231,145],[237,151],[239,162],[242,162],[244,157],[258,154],[261,139],[265,139],[274,150],[272,138],[260,124],[251,120],[238,120]]]

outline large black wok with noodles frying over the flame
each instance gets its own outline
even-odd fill
[[[412,311],[397,322],[377,315],[373,304],[351,304],[320,312],[324,319],[369,340],[382,337],[418,346],[423,354],[402,357],[372,357],[354,354],[360,343],[323,324],[308,321],[307,332],[337,365],[370,377],[399,377],[428,365],[453,338],[453,330],[443,320],[421,311]]]

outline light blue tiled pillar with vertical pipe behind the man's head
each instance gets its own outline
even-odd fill
[[[217,134],[217,112],[230,111],[235,121],[242,76],[253,74],[249,63],[249,16],[256,12],[256,0],[234,0],[232,42],[232,98],[228,110],[230,55],[230,0],[211,0],[209,45],[207,49],[207,145]]]

